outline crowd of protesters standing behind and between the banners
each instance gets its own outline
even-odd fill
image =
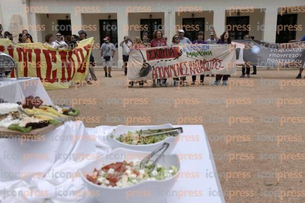
[[[9,33],[8,31],[5,31],[3,33],[3,26],[0,24],[0,38],[8,38],[9,40],[13,41],[13,35]],[[87,38],[87,33],[84,30],[80,30],[78,32],[79,35],[67,35],[63,36],[61,32],[56,33],[55,40],[53,39],[52,34],[47,34],[45,36],[45,45],[49,46],[54,49],[74,49],[78,46],[78,42],[81,40],[84,40]],[[220,37],[217,36],[214,28],[212,27],[212,32],[209,35],[210,38],[208,38],[206,41],[204,40],[204,33],[202,31],[197,33],[197,39],[193,42],[190,41],[187,37],[184,36],[184,30],[179,30],[178,34],[175,34],[171,42],[167,41],[167,37],[163,34],[162,30],[155,30],[153,33],[153,39],[149,40],[148,33],[143,33],[142,39],[140,37],[135,37],[134,40],[131,41],[131,39],[128,36],[124,36],[124,40],[120,42],[120,47],[122,47],[122,55],[123,55],[123,70],[125,76],[127,75],[127,63],[129,59],[129,53],[132,50],[137,49],[146,49],[146,48],[153,48],[153,47],[163,47],[163,46],[177,46],[177,45],[184,45],[184,44],[231,44],[231,37],[230,34],[225,31],[223,32]],[[250,36],[246,34],[244,36],[245,40],[253,40],[254,36]],[[305,35],[301,40],[305,40]],[[113,43],[110,43],[110,37],[106,36],[103,39],[104,43],[102,43],[101,46],[101,58],[103,62],[105,77],[111,78],[111,66],[112,66],[112,59],[116,53],[116,47]],[[18,35],[18,42],[19,43],[33,43],[32,36],[28,33],[27,30],[23,30],[22,33]],[[95,72],[94,72],[94,66],[96,66],[96,63],[94,62],[94,58],[92,56],[92,53],[90,55],[90,65],[89,65],[89,72],[86,76],[86,82],[88,84],[91,84],[91,80],[98,80]],[[107,69],[108,68],[108,69]],[[247,77],[250,77],[250,62],[245,62],[242,64],[242,74],[240,78],[244,78],[245,75]],[[296,78],[301,78],[301,73],[303,69],[300,69],[300,73]],[[256,66],[253,66],[253,75],[257,74]],[[209,76],[208,74],[201,74],[200,75],[200,85],[204,85],[204,77]],[[212,74],[212,77],[214,75]],[[215,82],[213,83],[214,86],[224,85],[226,86],[228,84],[228,78],[230,75],[216,75]],[[192,76],[192,85],[195,85],[197,76]],[[185,86],[186,83],[186,77],[180,77],[180,78],[173,78],[174,80],[174,86]],[[221,84],[222,80],[222,84]],[[139,86],[142,87],[146,81],[130,81],[129,86],[134,86],[135,82],[139,83]],[[167,79],[158,79],[157,83],[156,80],[153,80],[153,87],[161,86],[166,87],[168,85]]]

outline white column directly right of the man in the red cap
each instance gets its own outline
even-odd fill
[[[126,12],[118,12],[118,67],[119,69],[123,66],[123,56],[122,56],[122,47],[120,47],[120,42],[124,40],[124,36],[128,35],[128,16]]]

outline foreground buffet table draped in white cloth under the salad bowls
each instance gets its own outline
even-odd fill
[[[141,126],[139,126],[140,128]],[[211,148],[209,147],[205,131],[201,125],[182,125],[183,133],[173,153],[180,157],[181,174],[171,191],[164,193],[164,201],[157,203],[176,202],[225,202],[222,189],[217,177],[217,171]],[[27,178],[8,178],[0,182],[0,202],[82,202],[94,203],[94,195],[75,196],[59,195],[60,191],[86,190],[82,179],[77,174],[79,168],[94,160],[92,157],[104,155],[111,149],[106,142],[106,135],[113,129],[111,126],[98,126],[96,128],[84,128],[82,122],[67,122],[63,126],[46,134],[46,141],[40,143],[25,142],[22,146],[11,140],[0,140],[1,154],[15,154],[21,157],[17,160],[9,160],[6,156],[0,157],[1,173],[13,172],[43,172],[44,176]],[[67,136],[77,135],[78,139],[63,139]],[[62,138],[58,141],[55,138]],[[191,138],[191,139],[190,139]],[[192,139],[193,138],[193,139]],[[195,138],[195,139],[194,139]],[[47,159],[27,158],[24,162],[24,154],[47,154]],[[60,158],[58,154],[66,154],[67,159]],[[79,154],[79,156],[77,156]],[[90,154],[90,156],[80,156]],[[69,156],[74,155],[74,156]],[[75,160],[75,155],[78,157]],[[34,156],[27,156],[34,157]],[[72,157],[72,158],[71,158]],[[88,157],[91,157],[90,159]],[[206,173],[210,175],[206,175]],[[1,175],[2,175],[1,174]],[[57,176],[54,174],[58,174]],[[61,176],[59,174],[72,174]],[[74,175],[73,175],[74,174]],[[193,174],[193,175],[192,175]],[[213,175],[211,175],[213,174]],[[3,176],[3,175],[2,175]],[[43,196],[9,196],[7,191],[48,191]],[[75,193],[73,193],[75,194]],[[179,194],[173,195],[173,194]],[[101,197],[102,198],[102,197]]]

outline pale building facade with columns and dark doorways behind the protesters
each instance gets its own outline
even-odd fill
[[[38,42],[44,42],[48,33],[85,30],[96,39],[93,56],[98,63],[102,39],[109,36],[117,47],[113,66],[118,67],[123,64],[118,44],[124,36],[133,39],[146,32],[152,38],[155,29],[163,30],[168,44],[180,29],[191,40],[199,31],[208,39],[213,27],[218,36],[227,30],[233,39],[249,34],[270,42],[288,42],[305,34],[304,0],[9,0],[0,1],[0,11],[4,31],[26,29]]]

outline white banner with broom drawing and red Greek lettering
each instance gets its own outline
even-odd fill
[[[187,44],[133,50],[127,65],[129,80],[176,78],[200,74],[236,74],[235,46]]]

